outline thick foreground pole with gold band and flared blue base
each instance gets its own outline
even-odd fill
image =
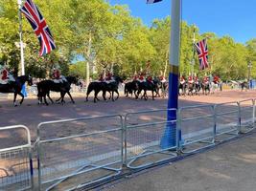
[[[178,109],[178,67],[180,48],[180,9],[181,0],[172,0],[172,23],[171,23],[171,43],[170,43],[170,73],[169,73],[169,97],[168,109]],[[167,119],[176,120],[176,112],[168,111]],[[180,135],[178,136],[180,137]],[[176,124],[167,125],[164,137],[160,143],[162,148],[176,145]]]

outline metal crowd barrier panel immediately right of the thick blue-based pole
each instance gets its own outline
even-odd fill
[[[179,149],[182,153],[193,153],[199,149],[214,145],[214,105],[179,108],[178,127],[181,132]]]

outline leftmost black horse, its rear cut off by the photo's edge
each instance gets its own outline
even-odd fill
[[[25,82],[28,82],[28,84],[32,85],[32,77],[30,75],[21,75],[18,76],[15,81],[9,83],[9,84],[0,84],[0,93],[13,93],[13,105],[17,106],[16,104],[16,97],[17,95],[21,96],[21,100],[19,104],[21,105],[24,100],[24,95],[21,93],[22,87],[25,84]]]

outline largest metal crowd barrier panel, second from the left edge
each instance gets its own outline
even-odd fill
[[[108,122],[100,124],[101,120]],[[74,125],[73,129],[76,125],[84,126],[84,133],[61,135],[60,138],[41,137],[49,125],[55,131],[70,123]],[[37,127],[39,190],[75,189],[120,174],[123,164],[122,132],[123,119],[119,115],[40,123]]]

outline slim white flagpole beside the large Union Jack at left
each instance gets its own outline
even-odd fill
[[[21,4],[22,0],[17,0],[18,2],[18,18],[19,18],[19,46],[20,46],[20,64],[21,64],[21,74],[25,74],[25,62],[24,62],[24,46],[22,42],[22,17],[21,17]]]

